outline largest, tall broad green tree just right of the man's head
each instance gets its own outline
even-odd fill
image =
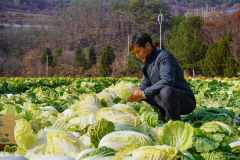
[[[200,39],[200,17],[176,17],[166,49],[174,54],[183,69],[200,67],[204,44]]]

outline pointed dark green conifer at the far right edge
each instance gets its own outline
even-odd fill
[[[205,76],[236,76],[237,63],[230,53],[230,41],[231,33],[228,32],[224,39],[209,46],[201,67]]]

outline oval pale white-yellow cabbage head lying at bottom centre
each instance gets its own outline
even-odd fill
[[[106,146],[119,153],[127,153],[141,146],[153,145],[150,137],[134,131],[115,131],[104,136],[99,147]]]

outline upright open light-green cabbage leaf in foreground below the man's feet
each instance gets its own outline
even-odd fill
[[[158,144],[176,147],[181,152],[192,147],[194,128],[189,123],[170,120],[162,128]]]

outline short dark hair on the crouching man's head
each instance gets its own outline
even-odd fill
[[[146,46],[146,43],[149,42],[153,47],[152,38],[144,32],[137,32],[133,37],[130,45],[130,51],[133,50],[134,45],[139,45],[140,47]]]

